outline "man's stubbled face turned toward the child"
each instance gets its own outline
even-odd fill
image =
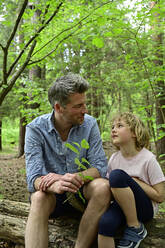
[[[63,119],[70,125],[81,125],[87,112],[85,93],[72,94],[69,103],[62,107]]]

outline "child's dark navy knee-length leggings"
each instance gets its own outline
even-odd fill
[[[111,171],[109,182],[111,188],[131,188],[134,193],[139,221],[145,222],[153,218],[153,206],[150,198],[125,171],[120,169]],[[127,201],[127,199],[125,200]],[[126,224],[124,213],[119,204],[114,200],[99,221],[98,233],[114,237],[118,228],[124,224]]]

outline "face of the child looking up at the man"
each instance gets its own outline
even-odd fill
[[[111,138],[114,145],[120,147],[122,145],[135,142],[135,134],[124,120],[115,120],[112,125]]]

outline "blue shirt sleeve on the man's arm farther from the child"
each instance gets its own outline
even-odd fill
[[[42,137],[36,129],[27,126],[25,135],[26,178],[29,192],[34,192],[34,181],[44,167]]]

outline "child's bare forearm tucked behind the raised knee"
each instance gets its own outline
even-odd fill
[[[165,184],[164,182],[157,183],[153,186],[150,186],[143,181],[139,180],[136,177],[133,179],[140,185],[140,187],[144,190],[144,192],[148,195],[148,197],[158,203],[161,203],[165,199]]]

